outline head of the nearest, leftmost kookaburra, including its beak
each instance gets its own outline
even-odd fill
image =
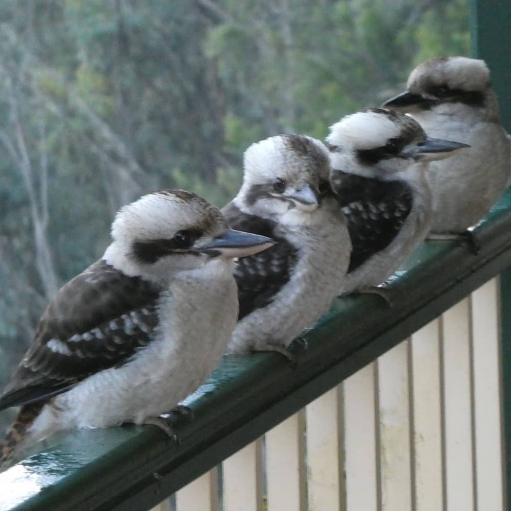
[[[161,190],[121,208],[105,259],[126,274],[167,280],[215,258],[258,253],[274,244],[265,236],[231,230],[218,208],[183,190]]]

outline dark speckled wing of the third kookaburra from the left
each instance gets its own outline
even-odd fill
[[[348,273],[385,249],[398,235],[412,208],[403,181],[383,181],[335,171],[333,190],[348,221],[353,250]]]

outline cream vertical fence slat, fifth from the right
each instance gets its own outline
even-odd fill
[[[377,511],[376,402],[374,363],[344,383],[346,509]]]

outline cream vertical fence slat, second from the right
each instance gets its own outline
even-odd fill
[[[474,472],[469,298],[444,313],[442,332],[446,511],[472,511]]]

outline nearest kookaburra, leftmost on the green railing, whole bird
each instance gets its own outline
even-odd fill
[[[44,311],[0,395],[21,406],[0,440],[0,466],[57,431],[155,424],[210,375],[238,317],[233,258],[274,244],[227,227],[183,190],[121,208],[103,257]]]

